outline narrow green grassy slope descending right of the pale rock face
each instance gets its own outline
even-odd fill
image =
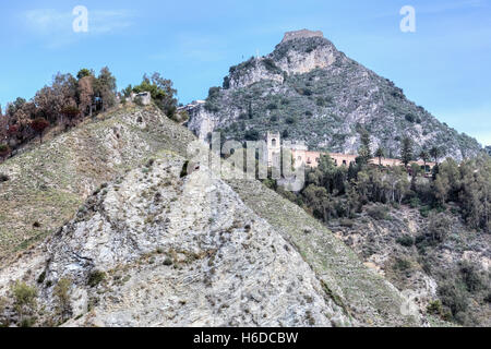
[[[418,320],[402,314],[407,300],[363,265],[319,220],[258,181],[230,181],[244,203],[288,241],[324,282],[330,294],[362,326],[415,326]]]

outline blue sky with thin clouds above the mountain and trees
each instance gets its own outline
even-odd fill
[[[88,33],[72,10],[88,9]],[[403,5],[416,33],[402,33]],[[171,79],[181,103],[206,97],[230,65],[271,52],[286,31],[321,29],[441,121],[491,144],[491,0],[2,1],[0,103],[31,98],[60,72],[108,65],[118,87]]]

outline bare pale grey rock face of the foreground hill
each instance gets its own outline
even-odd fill
[[[297,250],[224,182],[164,154],[91,196],[76,218],[0,270],[37,284],[39,321],[70,280],[67,326],[344,326]],[[44,281],[36,282],[43,274]],[[95,285],[94,275],[104,275]]]

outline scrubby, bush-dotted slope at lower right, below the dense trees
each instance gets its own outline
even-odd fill
[[[428,239],[435,227],[420,210],[402,206],[381,217],[373,215],[376,207],[328,228],[399,290],[410,290],[422,312],[490,326],[490,234],[470,230],[448,210],[432,218],[447,234],[435,243]]]

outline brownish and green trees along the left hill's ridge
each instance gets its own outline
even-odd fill
[[[176,116],[177,91],[159,73],[145,74],[140,85],[129,85],[120,93],[116,82],[107,67],[98,75],[88,69],[80,70],[76,76],[58,73],[32,99],[16,98],[7,105],[4,115],[0,106],[0,160],[37,136],[43,142],[47,129],[70,129],[84,118],[109,110],[118,100],[125,103],[131,93],[149,92],[157,107],[170,118]]]

